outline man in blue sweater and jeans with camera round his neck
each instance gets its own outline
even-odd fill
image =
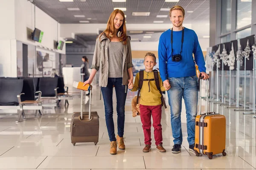
[[[173,28],[163,32],[159,39],[159,71],[163,85],[166,88],[171,86],[167,93],[174,138],[172,152],[179,153],[182,144],[180,121],[182,97],[186,107],[189,150],[194,151],[195,116],[198,105],[198,79],[195,62],[204,79],[208,79],[209,76],[205,73],[204,56],[195,31],[182,26],[185,16],[184,9],[181,6],[173,6],[169,15]],[[194,54],[195,62],[192,54]]]

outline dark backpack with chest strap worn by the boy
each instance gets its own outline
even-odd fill
[[[156,85],[157,85],[157,89],[161,94],[162,106],[164,105],[164,107],[167,108],[166,103],[165,103],[164,98],[163,98],[162,91],[160,89],[160,84],[159,84],[159,79],[158,79],[158,71],[153,70],[153,72],[154,72],[154,79],[144,79],[144,70],[140,71],[140,73],[139,73],[139,88],[138,88],[138,94],[137,94],[137,104],[139,104],[140,89],[142,88],[143,81],[155,81]]]

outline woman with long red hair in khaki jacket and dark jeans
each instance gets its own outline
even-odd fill
[[[92,72],[84,82],[84,85],[90,84],[99,71],[111,155],[116,154],[117,144],[119,149],[125,150],[125,100],[127,87],[133,83],[130,40],[131,37],[126,35],[125,14],[116,9],[111,13],[105,31],[96,39]],[[116,90],[117,136],[113,122],[113,87]]]

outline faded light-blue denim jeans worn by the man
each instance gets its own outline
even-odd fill
[[[188,142],[195,143],[195,117],[198,105],[198,79],[193,77],[168,78],[171,88],[168,93],[169,105],[171,107],[171,125],[174,144],[182,144],[181,130],[181,101],[182,97],[186,107],[186,122]]]

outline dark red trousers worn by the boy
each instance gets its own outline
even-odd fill
[[[153,127],[154,127],[154,139],[155,144],[163,144],[162,136],[162,105],[157,106],[145,106],[140,105],[140,119],[142,122],[142,128],[144,132],[144,143],[151,144],[151,114],[153,118]]]

